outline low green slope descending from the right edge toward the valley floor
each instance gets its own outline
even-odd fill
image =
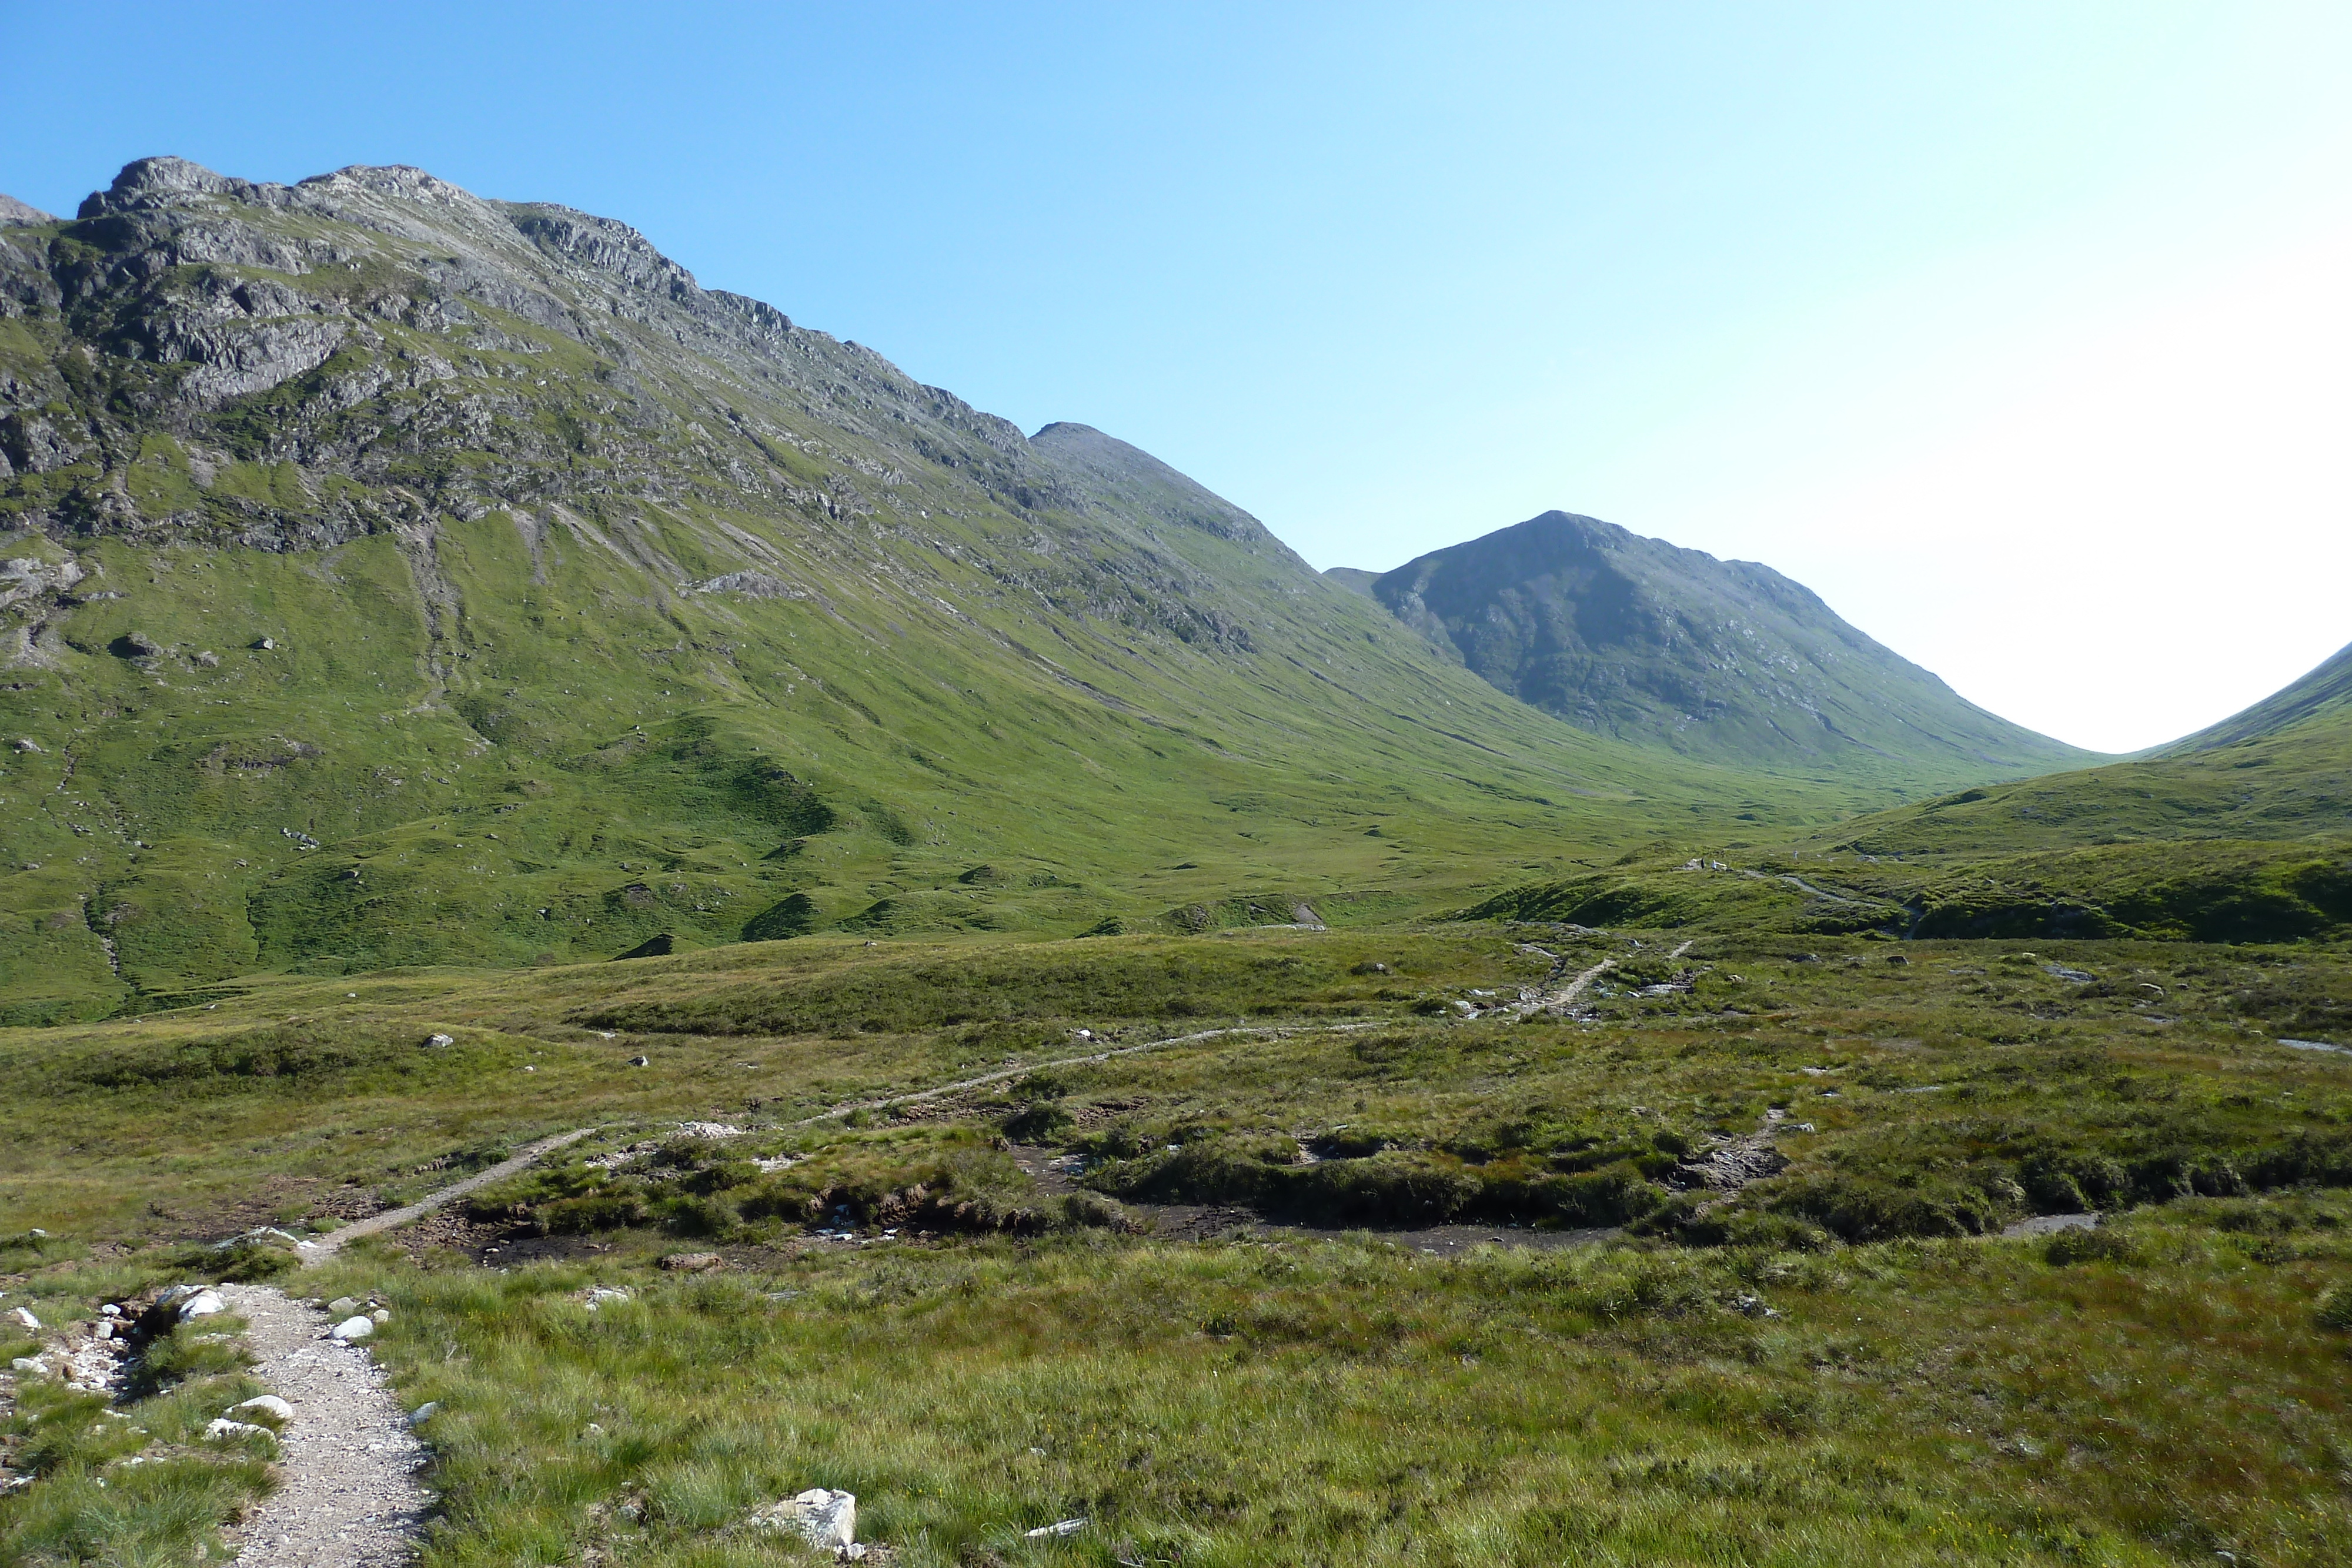
[[[1912,938],[2340,938],[2352,705],[2305,703],[2314,684],[2249,710],[2310,712],[2267,733],[1962,790],[1792,842],[1661,846],[1503,889],[1477,912]]]

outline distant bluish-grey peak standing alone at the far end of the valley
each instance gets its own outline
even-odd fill
[[[1696,759],[1915,792],[2096,759],[1976,708],[1771,567],[1595,517],[1543,512],[1369,592],[1498,691]]]

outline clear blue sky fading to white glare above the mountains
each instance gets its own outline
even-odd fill
[[[619,216],[1388,569],[1545,508],[2152,745],[2352,642],[2352,7],[49,5],[0,190]]]

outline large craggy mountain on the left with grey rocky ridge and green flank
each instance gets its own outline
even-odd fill
[[[1498,696],[1258,520],[407,167],[0,228],[0,1018],[1432,907],[1884,792]]]

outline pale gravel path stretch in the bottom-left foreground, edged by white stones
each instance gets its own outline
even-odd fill
[[[327,1314],[268,1286],[221,1286],[249,1324],[254,1373],[294,1406],[278,1436],[282,1483],[230,1533],[247,1568],[395,1568],[416,1552],[430,1497],[383,1371],[327,1338]]]

